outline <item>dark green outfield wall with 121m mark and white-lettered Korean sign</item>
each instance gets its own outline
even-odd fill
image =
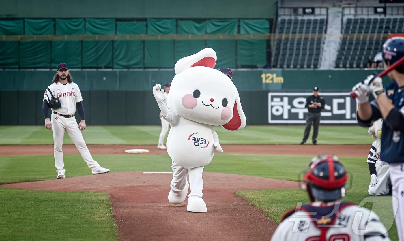
[[[72,70],[71,72],[74,82],[80,86],[82,91],[87,124],[160,124],[159,109],[151,88],[156,83],[169,82],[174,75],[173,70]],[[43,125],[43,93],[50,84],[54,73],[54,71],[27,70],[0,71],[0,125]],[[299,94],[310,93],[313,86],[320,88],[320,95],[322,92],[345,93],[345,95],[327,96],[330,98],[328,112],[332,112],[332,120],[352,121],[354,117],[350,115],[354,115],[356,105],[354,101],[348,101],[346,93],[369,73],[372,71],[235,70],[234,83],[240,93],[247,124],[250,125],[268,124],[271,119],[270,114],[272,114],[272,123],[275,124],[302,123],[302,118],[298,119],[299,110],[297,108],[302,105],[302,98],[306,94],[302,96]],[[280,77],[283,78],[282,81],[279,79]],[[385,84],[388,82],[386,78]],[[287,94],[277,95],[279,92]],[[277,105],[277,98],[284,101],[282,96],[288,97],[288,103],[285,102],[283,106],[288,114],[285,114],[285,111],[280,114],[281,110],[273,109],[272,106],[272,109],[268,109],[269,93],[272,94],[270,101],[274,105]],[[343,108],[346,108],[345,112]],[[293,118],[294,122],[285,122],[286,119]]]

